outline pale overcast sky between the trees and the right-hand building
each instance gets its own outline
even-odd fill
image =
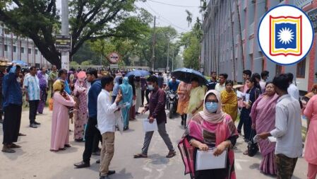
[[[61,8],[61,1],[56,1],[59,9]],[[200,5],[199,0],[147,0],[144,3],[142,1],[136,3],[139,8],[145,8],[153,16],[157,16],[157,26],[171,25],[179,33],[191,30],[186,21],[187,13],[185,10],[187,9],[193,14],[194,23],[196,17],[201,16],[198,8]]]

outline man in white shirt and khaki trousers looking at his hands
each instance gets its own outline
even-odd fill
[[[107,76],[101,79],[102,91],[97,98],[97,127],[102,134],[102,151],[100,154],[100,179],[108,179],[115,171],[109,171],[110,161],[114,156],[114,132],[116,130],[116,117],[114,112],[122,99],[119,92],[112,104],[110,92],[114,88],[114,78]]]

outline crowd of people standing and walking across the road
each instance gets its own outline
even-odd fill
[[[179,142],[180,154],[191,178],[236,178],[234,146],[239,135],[248,144],[245,155],[253,156],[249,146],[258,146],[262,160],[260,171],[277,178],[291,178],[297,158],[303,154],[301,115],[308,121],[304,158],[309,163],[307,178],[317,174],[317,84],[303,98],[293,83],[293,74],[279,74],[267,81],[269,72],[261,74],[243,71],[244,83],[237,85],[227,74],[213,72],[208,84],[201,84],[198,77],[191,83],[178,81],[167,73],[149,76],[126,76],[126,71],[97,71],[96,69],[52,71],[30,67],[21,71],[13,64],[1,70],[0,116],[4,113],[3,152],[14,153],[20,148],[20,118],[23,106],[28,103],[30,127],[40,127],[36,116],[43,113],[45,104],[52,101],[52,136],[50,151],[58,152],[71,147],[69,144],[69,119],[73,119],[73,139],[85,142],[82,161],[76,168],[90,166],[92,154],[100,155],[100,178],[109,178],[114,156],[114,132],[118,118],[123,130],[129,121],[149,110],[150,123],[157,122],[158,133],[165,142],[172,158],[177,154],[166,130],[167,115],[165,91],[179,96],[177,113],[181,116],[184,136]],[[51,93],[49,94],[49,91]],[[143,108],[144,107],[144,108]],[[235,122],[237,122],[237,127]],[[243,127],[243,132],[242,131]],[[145,132],[141,152],[134,158],[147,158],[154,132]],[[256,138],[257,137],[257,138]],[[270,142],[268,137],[275,137]],[[258,144],[253,139],[258,139]],[[99,144],[102,144],[102,149]],[[219,156],[227,151],[227,165],[222,169],[196,171],[196,151],[214,150]],[[254,148],[253,150],[257,150]],[[256,151],[257,152],[257,151]]]

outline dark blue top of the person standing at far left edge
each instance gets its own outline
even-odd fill
[[[4,98],[4,108],[8,105],[22,105],[22,91],[18,81],[16,81],[16,67],[12,67],[2,81],[2,94]]]

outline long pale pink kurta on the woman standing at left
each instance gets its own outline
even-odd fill
[[[65,144],[69,144],[69,116],[68,108],[75,105],[75,101],[71,96],[70,100],[66,100],[59,91],[53,96],[53,115],[52,115],[52,136],[51,150],[63,149]]]

